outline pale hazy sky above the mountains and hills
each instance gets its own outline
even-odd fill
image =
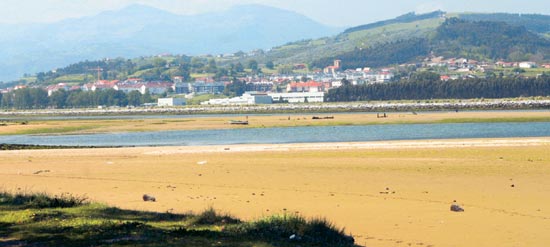
[[[54,22],[140,3],[178,14],[264,4],[304,14],[331,26],[353,26],[416,11],[550,14],[549,0],[0,0],[0,23]]]

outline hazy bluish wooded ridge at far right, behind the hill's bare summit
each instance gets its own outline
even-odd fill
[[[498,21],[514,26],[523,26],[536,33],[550,33],[550,16],[536,14],[460,14],[460,19],[468,21]]]

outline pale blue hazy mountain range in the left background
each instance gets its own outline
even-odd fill
[[[51,24],[0,25],[0,81],[82,60],[161,53],[220,54],[269,49],[342,29],[262,5],[183,16],[131,5]]]

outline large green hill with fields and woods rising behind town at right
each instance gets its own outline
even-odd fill
[[[451,40],[453,37],[442,35],[445,30],[440,26],[446,20],[453,18],[468,20],[463,24],[466,29],[461,30],[465,32],[465,36],[470,36],[464,46],[462,46],[463,40],[453,42]],[[453,28],[458,28],[459,25],[454,23]],[[488,28],[482,28],[483,25]],[[260,62],[274,61],[277,64],[307,63],[313,65],[311,67],[322,68],[331,64],[332,59],[344,60],[351,53],[360,51],[365,54],[365,50],[368,50],[371,51],[371,55],[365,56],[368,61],[357,67],[386,66],[414,60],[417,55],[423,55],[421,52],[424,49],[407,51],[404,58],[395,58],[397,56],[395,54],[385,55],[385,57],[394,57],[387,62],[372,61],[372,59],[376,59],[376,54],[394,51],[388,49],[393,46],[399,46],[398,51],[402,53],[406,50],[402,47],[403,43],[414,43],[407,41],[409,39],[427,39],[430,49],[434,49],[437,55],[463,56],[480,60],[501,58],[521,61],[529,60],[533,55],[545,54],[547,50],[544,48],[548,47],[549,32],[550,16],[545,15],[446,14],[439,11],[423,15],[409,13],[395,19],[349,28],[337,36],[302,40],[274,47],[254,59]],[[472,42],[472,38],[476,36],[481,39]],[[418,48],[418,44],[411,48],[415,47]]]

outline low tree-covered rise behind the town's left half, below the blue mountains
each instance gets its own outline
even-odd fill
[[[268,69],[274,69],[275,65],[272,61],[268,61],[265,66]],[[36,81],[30,85],[55,84],[56,81],[60,81],[58,78],[64,76],[69,76],[69,79],[64,78],[63,81],[80,84],[93,82],[98,79],[98,70],[99,77],[104,80],[125,80],[128,77],[135,76],[145,81],[171,81],[175,76],[182,76],[185,80],[192,81],[192,73],[213,74],[215,79],[221,79],[223,77],[242,76],[246,74],[245,69],[250,69],[252,74],[262,73],[258,62],[253,59],[248,60],[244,65],[237,62],[221,66],[214,58],[188,57],[185,55],[168,58],[115,58],[83,61],[64,68],[58,68],[55,71],[39,72],[36,74]],[[75,78],[70,78],[75,75]],[[31,77],[31,75],[27,74],[25,77]],[[17,84],[27,84],[27,81],[21,80],[9,85]],[[8,87],[8,84],[4,83],[0,86]]]

